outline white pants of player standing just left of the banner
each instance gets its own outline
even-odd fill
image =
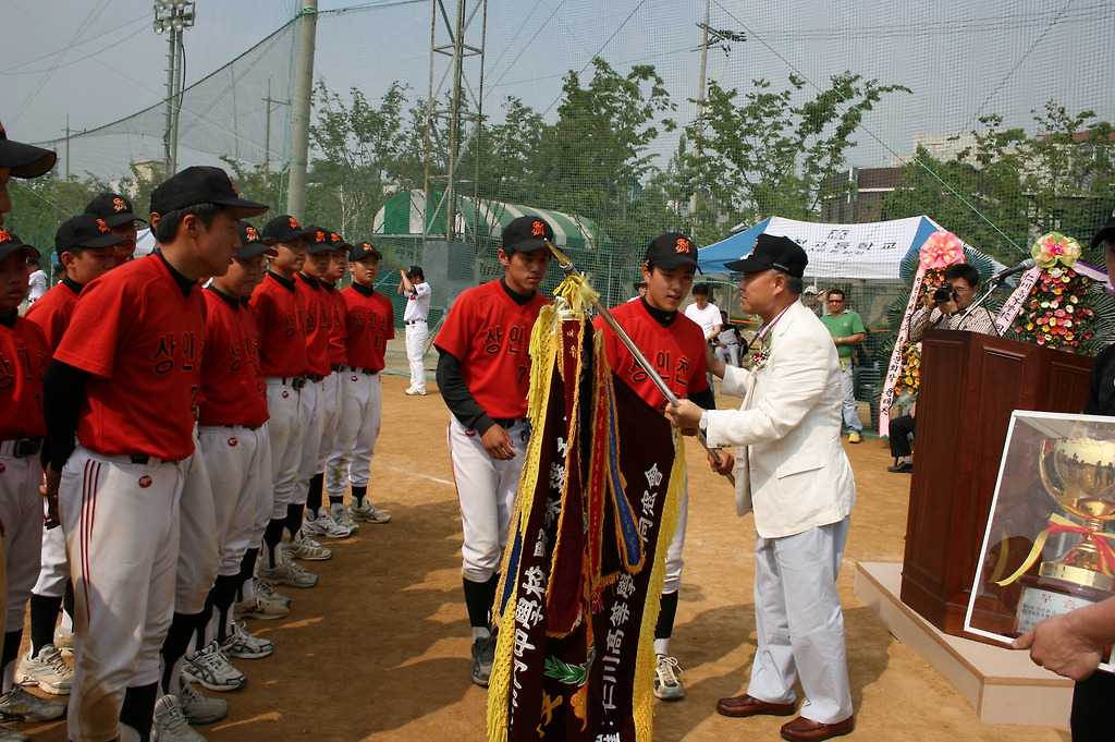
[[[515,443],[515,457],[498,461],[488,455],[478,431],[466,428],[456,417],[449,420],[449,457],[465,537],[460,574],[473,582],[486,582],[503,560],[531,425],[522,420],[507,428],[507,435]]]

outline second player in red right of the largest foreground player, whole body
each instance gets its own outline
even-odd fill
[[[275,240],[278,256],[271,260],[263,282],[249,305],[260,328],[260,368],[268,386],[268,436],[271,442],[273,503],[263,532],[263,558],[258,570],[264,584],[297,588],[318,584],[314,575],[283,558],[282,534],[288,509],[294,498],[298,468],[306,433],[299,405],[307,384],[306,301],[294,285],[294,273],[306,263],[306,237],[293,216],[277,216],[263,225],[263,239]]]

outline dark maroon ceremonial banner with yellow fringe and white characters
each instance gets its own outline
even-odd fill
[[[531,338],[534,432],[494,606],[488,739],[650,742],[680,436],[613,383],[592,325],[558,311]]]

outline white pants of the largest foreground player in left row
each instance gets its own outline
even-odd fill
[[[132,463],[78,445],[62,470],[58,507],[75,598],[71,742],[117,739],[125,690],[158,682],[188,463]]]

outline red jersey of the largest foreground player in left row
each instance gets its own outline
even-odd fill
[[[183,296],[157,254],[115,268],[81,291],[55,358],[91,374],[77,440],[108,455],[185,459],[205,345],[205,299]]]

